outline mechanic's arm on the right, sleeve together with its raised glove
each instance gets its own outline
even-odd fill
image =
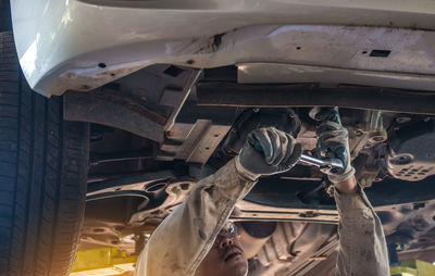
[[[339,225],[337,276],[387,276],[388,251],[376,213],[355,178],[350,164],[348,133],[340,124],[327,122],[318,129],[318,147],[345,164],[343,174],[330,174],[335,186]]]

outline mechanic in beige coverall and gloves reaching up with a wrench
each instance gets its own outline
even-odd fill
[[[318,147],[345,164],[343,174],[330,174],[339,214],[339,254],[336,275],[389,275],[388,253],[380,218],[353,176],[348,131],[324,122]],[[136,276],[244,276],[248,261],[237,229],[227,222],[235,204],[260,176],[290,170],[302,152],[300,143],[273,127],[253,130],[263,152],[245,142],[240,153],[215,174],[200,180],[181,204],[157,227],[141,252]]]

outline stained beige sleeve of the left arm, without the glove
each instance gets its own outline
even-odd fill
[[[237,200],[253,184],[237,173],[235,160],[200,180],[151,235],[139,256],[136,275],[192,275]]]

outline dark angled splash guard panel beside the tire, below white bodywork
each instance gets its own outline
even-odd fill
[[[154,65],[89,93],[69,91],[64,117],[162,142],[200,74],[200,70]]]

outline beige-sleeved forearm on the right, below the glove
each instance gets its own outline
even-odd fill
[[[339,212],[339,253],[336,275],[389,275],[388,251],[382,223],[355,176],[348,178],[349,192],[335,189]],[[353,190],[353,191],[350,191]]]

